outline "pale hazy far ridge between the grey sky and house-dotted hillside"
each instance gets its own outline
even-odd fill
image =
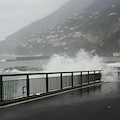
[[[0,42],[0,53],[15,53],[16,45],[28,41],[34,33],[41,32],[51,25],[66,20],[74,13],[80,12],[89,6],[93,1],[94,0],[69,0],[54,13],[20,29],[16,33],[8,36],[5,41]]]

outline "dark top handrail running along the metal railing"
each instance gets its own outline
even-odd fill
[[[25,75],[41,75],[41,74],[60,74],[60,73],[81,73],[81,72],[101,72],[102,70],[86,70],[86,71],[64,71],[64,72],[36,72],[36,73],[14,73],[14,74],[0,74],[0,76],[25,76]]]

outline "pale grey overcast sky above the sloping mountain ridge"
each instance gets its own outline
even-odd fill
[[[68,0],[0,0],[0,40],[52,13]]]

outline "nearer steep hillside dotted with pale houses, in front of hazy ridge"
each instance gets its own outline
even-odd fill
[[[82,12],[32,34],[16,48],[17,54],[68,53],[84,48],[99,55],[120,52],[120,2],[95,0]]]

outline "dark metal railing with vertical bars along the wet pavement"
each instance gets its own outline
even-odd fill
[[[100,80],[100,70],[0,75],[0,101],[64,90]]]

